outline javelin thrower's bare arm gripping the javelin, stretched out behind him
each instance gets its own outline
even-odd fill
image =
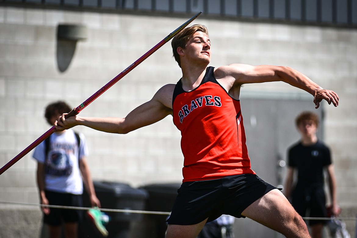
[[[161,89],[157,91],[150,101],[132,110],[125,118],[71,116],[65,119],[66,114],[63,114],[59,120],[55,122],[56,130],[62,131],[76,125],[84,125],[102,132],[126,134],[138,128],[153,124],[172,113],[172,109],[162,102],[162,98],[166,96],[165,94],[167,92]]]

